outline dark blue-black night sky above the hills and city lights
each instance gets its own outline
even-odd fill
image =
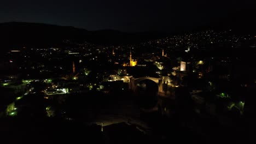
[[[0,22],[38,22],[88,30],[172,32],[215,25],[223,20],[234,21],[241,17],[243,22],[235,21],[249,22],[255,19],[256,13],[251,12],[253,8],[253,0],[5,0],[0,4]]]

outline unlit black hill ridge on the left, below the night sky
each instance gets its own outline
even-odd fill
[[[167,34],[158,32],[127,33],[111,29],[87,31],[86,29],[69,26],[27,22],[0,23],[0,32],[1,46],[9,48],[61,46],[63,40],[67,39],[76,43],[86,41],[100,45],[136,44],[167,36]]]

